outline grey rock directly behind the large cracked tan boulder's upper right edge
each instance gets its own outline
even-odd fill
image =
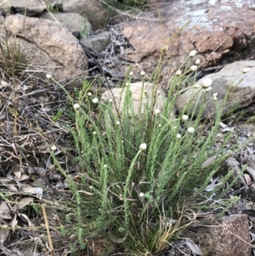
[[[66,14],[66,13],[59,13],[59,14],[50,14],[50,13],[43,13],[40,18],[45,20],[52,20],[54,22],[59,22],[62,26],[67,28],[70,31],[79,31],[87,36],[92,33],[92,26],[89,23],[86,17],[82,17],[80,14]]]

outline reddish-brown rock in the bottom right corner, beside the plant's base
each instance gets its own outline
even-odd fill
[[[246,214],[224,216],[213,226],[197,227],[185,231],[185,238],[199,245],[203,255],[250,256],[251,238]],[[208,254],[207,254],[208,253]]]

